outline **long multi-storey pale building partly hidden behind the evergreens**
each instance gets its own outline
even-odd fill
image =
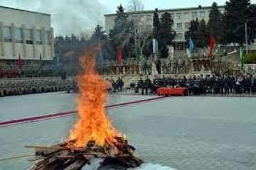
[[[198,18],[198,20],[204,19],[206,22],[208,22],[210,8],[211,6],[198,6],[196,8],[174,8],[158,10],[159,19],[163,13],[168,12],[171,13],[171,16],[174,20],[174,30],[176,30],[174,50],[186,50],[186,40],[184,34],[188,30],[191,20],[196,20],[196,18]],[[220,13],[224,13],[224,6],[218,6],[218,8]],[[141,11],[139,13],[129,12],[127,14],[129,18],[139,16],[141,21],[140,25],[142,28],[150,31],[153,30],[154,10]],[[116,13],[105,15],[105,29],[107,33],[110,33],[110,30],[114,27],[115,17]]]

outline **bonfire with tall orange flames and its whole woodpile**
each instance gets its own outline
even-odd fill
[[[36,169],[86,169],[92,162],[97,168],[117,166],[136,167],[142,164],[135,148],[116,130],[105,111],[107,82],[95,73],[95,52],[80,58],[83,74],[78,77],[78,120],[66,142],[36,149]]]

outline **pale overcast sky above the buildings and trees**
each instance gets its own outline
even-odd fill
[[[225,4],[226,0],[143,0],[146,10],[186,8]],[[251,0],[256,4],[256,0]],[[115,13],[127,0],[0,0],[0,6],[50,13],[55,35],[90,34],[97,24],[104,25],[104,14]]]

